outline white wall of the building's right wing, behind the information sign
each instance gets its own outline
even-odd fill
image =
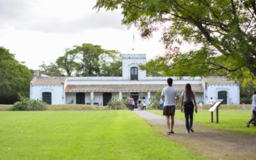
[[[204,103],[209,104],[209,100],[215,101],[218,99],[218,92],[227,92],[227,104],[240,104],[240,88],[239,84],[207,84],[205,85]]]

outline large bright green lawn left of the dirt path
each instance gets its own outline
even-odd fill
[[[1,111],[0,153],[0,159],[205,159],[124,110]]]

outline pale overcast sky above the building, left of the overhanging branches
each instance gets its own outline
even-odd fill
[[[18,61],[38,69],[84,43],[121,53],[144,53],[147,60],[164,53],[161,32],[143,40],[121,25],[120,11],[92,10],[96,0],[0,0],[0,45]],[[133,41],[133,35],[135,39]],[[132,48],[135,50],[132,51]]]

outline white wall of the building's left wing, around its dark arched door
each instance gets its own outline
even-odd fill
[[[52,93],[52,104],[65,104],[63,84],[61,85],[30,85],[30,99],[42,100],[43,92]]]

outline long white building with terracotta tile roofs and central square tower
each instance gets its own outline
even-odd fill
[[[167,86],[168,77],[147,77],[139,70],[146,63],[145,54],[123,54],[122,77],[34,77],[30,98],[48,104],[94,104],[105,106],[115,97],[139,97],[149,103],[156,92]],[[173,87],[182,92],[190,83],[196,102],[209,104],[211,99],[224,99],[224,104],[239,104],[239,83],[225,77],[172,77]]]

